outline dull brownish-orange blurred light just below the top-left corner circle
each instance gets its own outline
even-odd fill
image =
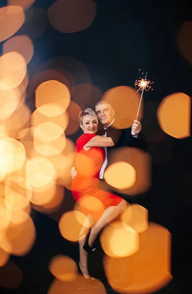
[[[28,64],[33,57],[34,46],[32,40],[28,36],[16,36],[7,40],[3,44],[3,54],[11,51],[19,52]]]

